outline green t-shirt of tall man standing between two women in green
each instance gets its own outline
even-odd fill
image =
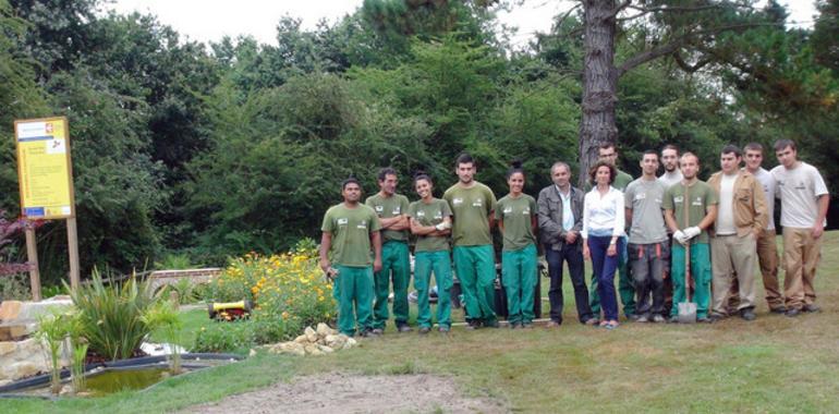
[[[449,203],[454,216],[451,239],[455,246],[493,244],[489,214],[496,207],[496,196],[488,186],[475,182],[472,187],[463,188],[457,183],[446,191],[442,198]]]

